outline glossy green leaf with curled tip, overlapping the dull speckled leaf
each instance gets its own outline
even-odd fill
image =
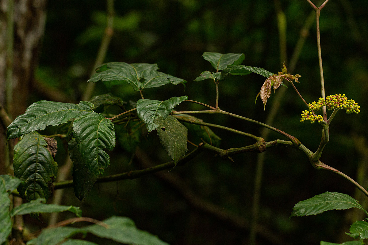
[[[188,100],[188,96],[172,97],[165,101],[139,99],[137,101],[138,117],[146,124],[148,132],[151,132],[158,127],[158,124],[155,123],[156,118],[160,116],[166,119],[172,109],[184,100]]]

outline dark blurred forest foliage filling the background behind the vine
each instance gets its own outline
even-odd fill
[[[116,1],[114,36],[105,62],[157,63],[160,72],[188,81],[185,91],[182,85],[172,84],[147,89],[144,94],[147,99],[163,101],[188,95],[190,100],[214,105],[215,86],[212,81],[193,81],[203,71],[214,71],[209,62],[201,58],[203,52],[244,53],[242,64],[262,67],[273,73],[281,70],[283,61],[288,64],[289,60],[280,60],[275,11],[278,3],[264,0]],[[280,3],[286,15],[287,55],[290,59],[311,7],[307,1],[285,0]],[[58,96],[64,95],[64,102],[78,103],[105,29],[105,1],[72,1],[66,4],[64,0],[54,0],[48,4],[45,40],[36,81],[56,89]],[[367,10],[367,0],[331,0],[321,14],[326,95],[344,93],[361,105],[359,115],[345,115],[343,112],[336,115],[330,126],[330,142],[321,160],[358,179],[364,187],[368,183],[365,177],[368,157]],[[292,73],[301,75],[296,86],[305,100],[312,102],[321,96],[315,24],[309,33],[302,34],[309,36]],[[264,122],[275,97],[269,98],[266,111],[263,111],[261,100],[254,104],[264,80],[257,74],[228,76],[220,82],[220,108]],[[37,83],[34,89],[29,104],[41,99],[55,100],[52,93],[40,93]],[[103,83],[97,84],[94,95],[108,92],[124,101],[140,98],[131,86],[113,86],[108,90]],[[183,102],[175,109],[184,111],[202,107]],[[300,123],[300,113],[304,109],[305,105],[289,88],[272,126],[296,136],[308,148],[315,150],[320,141],[321,126]],[[117,111],[114,107],[109,109],[111,113]],[[234,127],[258,136],[261,131],[254,124],[223,115],[195,116],[205,122]],[[222,138],[220,146],[223,149],[252,144],[248,138],[212,130]],[[52,134],[52,128],[46,128],[46,131]],[[270,134],[269,139],[276,138],[280,138],[279,135]],[[153,164],[170,161],[159,145],[155,131],[143,134],[138,141],[141,141],[139,149]],[[193,148],[188,144],[189,150]],[[146,167],[131,151],[117,145],[109,152],[110,165],[104,175]],[[56,158],[59,168],[67,157],[63,152],[60,145]],[[359,196],[354,196],[355,187],[336,174],[315,170],[308,159],[295,149],[273,148],[265,154],[259,223],[277,234],[282,244],[346,241],[348,236],[344,232],[352,223],[348,219],[350,211],[329,211],[319,216],[291,219],[289,216],[295,203],[326,191],[342,192],[358,199]],[[181,187],[249,224],[256,157],[257,153],[246,153],[234,156],[234,162],[231,162],[205,152],[185,166],[177,166],[165,173],[174,176]],[[157,234],[173,245],[247,244],[248,229],[218,221],[216,217],[196,209],[191,205],[194,202],[183,198],[183,192],[175,186],[170,181],[150,175],[118,183],[96,184],[82,203],[75,198],[72,188],[68,188],[61,204],[80,206],[84,216],[99,220],[111,215],[130,217],[138,228]],[[367,207],[364,201],[361,204]],[[343,235],[340,238],[336,234]],[[260,235],[259,244],[272,244],[272,237]]]

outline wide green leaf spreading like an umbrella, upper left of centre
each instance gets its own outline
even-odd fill
[[[106,86],[129,83],[135,91],[160,87],[167,83],[186,83],[185,80],[158,72],[157,64],[127,64],[124,62],[110,62],[96,69],[88,82],[105,82]]]

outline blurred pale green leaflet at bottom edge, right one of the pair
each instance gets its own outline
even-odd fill
[[[108,228],[94,224],[87,227],[86,231],[102,238],[112,239],[116,242],[135,245],[168,245],[155,235],[138,230],[134,222],[127,217],[110,217],[103,220]]]

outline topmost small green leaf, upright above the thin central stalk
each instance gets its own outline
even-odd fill
[[[213,68],[217,71],[221,71],[231,65],[239,65],[244,60],[244,54],[220,54],[212,52],[204,52],[202,57],[208,60]]]

